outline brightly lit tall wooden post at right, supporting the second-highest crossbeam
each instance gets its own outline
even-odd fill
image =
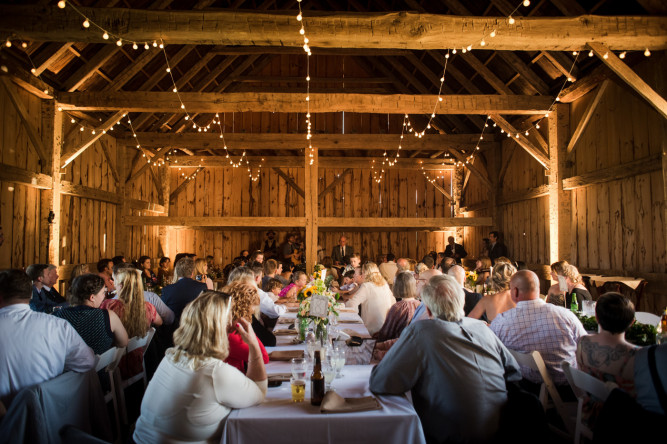
[[[572,260],[572,196],[563,190],[570,134],[570,107],[556,104],[549,113],[549,262]]]

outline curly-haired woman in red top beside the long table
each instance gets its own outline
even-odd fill
[[[252,323],[253,313],[259,306],[259,294],[257,288],[247,281],[234,281],[222,289],[223,293],[228,294],[232,299],[232,320],[233,325],[236,325],[240,320],[247,321],[249,325]],[[251,327],[255,334],[256,330]],[[273,336],[268,330],[262,331],[263,334]],[[248,366],[249,347],[243,341],[241,334],[237,330],[229,329],[227,335],[229,341],[229,354],[225,362],[232,367],[236,367],[239,371],[245,373]],[[261,351],[262,360],[264,364],[269,363],[269,354],[264,348],[259,337],[256,338],[257,344]],[[275,336],[273,337],[275,344]]]

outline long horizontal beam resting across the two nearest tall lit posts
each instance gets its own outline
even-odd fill
[[[180,93],[190,113],[217,112],[358,112],[430,114],[437,95],[410,94],[311,94],[310,107],[303,94],[287,93]],[[445,95],[438,114],[543,114],[552,99],[520,95]],[[77,92],[58,95],[64,110],[182,113],[173,92]]]

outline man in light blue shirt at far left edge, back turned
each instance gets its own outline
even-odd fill
[[[31,287],[21,270],[0,272],[0,402],[5,406],[24,387],[95,368],[95,353],[69,322],[30,309]]]

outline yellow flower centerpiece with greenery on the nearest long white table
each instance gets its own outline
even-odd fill
[[[338,312],[336,311],[338,293],[333,293],[327,289],[325,273],[326,271],[322,266],[316,265],[310,284],[304,287],[297,295],[297,301],[299,302],[297,325],[299,338],[302,341],[305,340],[306,330],[308,324],[311,322],[315,326],[316,337],[320,340],[325,340],[329,315],[338,316]],[[311,302],[313,301],[315,303],[311,307]]]

